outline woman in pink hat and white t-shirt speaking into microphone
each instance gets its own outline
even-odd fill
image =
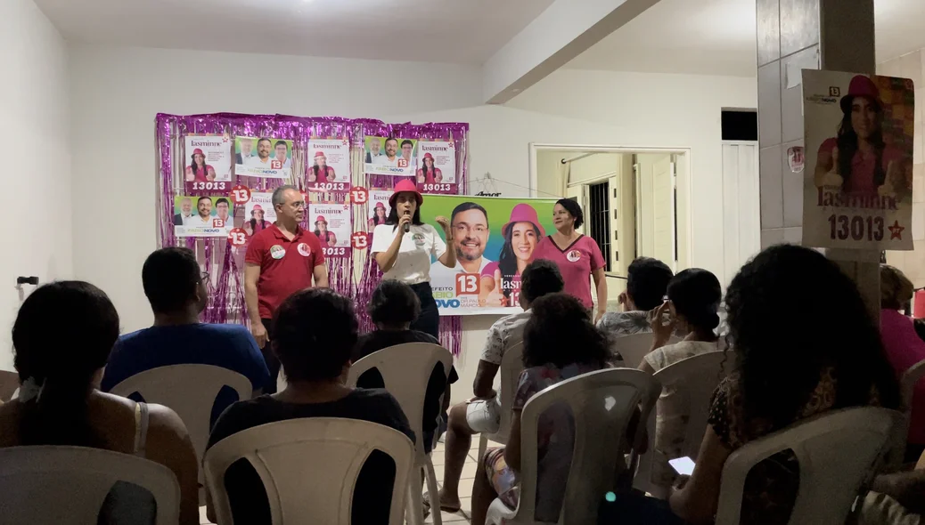
[[[396,279],[412,287],[421,300],[421,314],[412,330],[439,337],[440,316],[430,288],[430,260],[436,257],[447,268],[456,266],[456,250],[447,250],[434,226],[421,222],[424,197],[410,180],[401,180],[388,198],[391,211],[386,224],[373,230],[373,257],[385,273],[384,279]],[[446,238],[450,238],[450,221],[437,217]]]

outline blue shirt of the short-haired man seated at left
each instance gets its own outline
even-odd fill
[[[227,368],[251,380],[254,390],[264,390],[270,381],[260,348],[244,326],[181,324],[152,326],[120,336],[109,354],[101,388],[109,392],[132,375],[174,364],[209,364]],[[216,397],[212,421],[216,421],[218,414],[237,400],[232,389],[222,389]]]

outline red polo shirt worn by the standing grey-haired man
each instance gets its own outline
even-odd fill
[[[260,265],[257,302],[260,318],[270,319],[290,295],[312,287],[314,267],[325,263],[325,254],[314,233],[299,228],[290,240],[274,224],[253,236],[244,262]]]

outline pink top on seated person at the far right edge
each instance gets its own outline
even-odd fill
[[[896,372],[896,378],[920,360],[925,360],[925,341],[919,339],[912,319],[895,310],[880,311],[880,333],[886,359]],[[909,443],[925,445],[925,381],[919,381],[912,395],[912,418]]]

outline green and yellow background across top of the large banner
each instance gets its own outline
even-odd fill
[[[498,261],[501,245],[504,243],[504,236],[501,235],[501,226],[507,224],[511,219],[511,211],[517,204],[524,202],[536,210],[536,216],[539,218],[540,223],[539,226],[542,226],[545,235],[551,235],[556,231],[555,226],[552,226],[552,207],[556,204],[555,199],[512,199],[504,197],[475,197],[473,195],[425,195],[424,205],[421,207],[421,220],[437,228],[440,237],[444,238],[443,240],[447,240],[443,234],[443,228],[437,224],[436,218],[443,215],[447,219],[450,219],[453,208],[462,204],[462,202],[475,202],[485,208],[485,211],[488,213],[488,242],[482,256],[491,261]],[[447,242],[447,244],[449,245],[450,242]]]

